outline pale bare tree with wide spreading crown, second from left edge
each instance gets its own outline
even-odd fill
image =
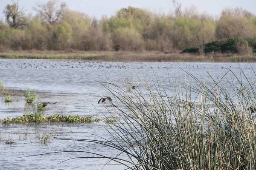
[[[67,4],[64,2],[58,3],[58,0],[49,0],[47,3],[37,3],[33,7],[35,11],[41,15],[41,20],[51,25],[56,23],[64,15]]]

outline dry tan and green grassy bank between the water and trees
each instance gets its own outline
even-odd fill
[[[180,54],[160,51],[9,51],[0,53],[8,59],[78,59],[87,61],[113,62],[256,62],[256,54]]]

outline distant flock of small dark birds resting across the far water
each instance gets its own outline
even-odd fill
[[[177,63],[179,65],[179,63]],[[182,63],[180,65],[183,65]],[[119,69],[143,69],[143,68],[174,68],[175,65],[154,65],[154,67],[147,62],[138,62],[137,64],[131,62],[85,62],[85,61],[46,61],[46,60],[27,60],[27,61],[9,61],[2,60],[0,61],[0,68],[38,68],[38,69],[50,69],[50,68],[119,68]],[[185,64],[184,68],[190,69],[208,69],[208,67],[204,65],[191,65]],[[229,69],[230,66],[223,65],[214,65],[211,68],[213,69]],[[236,67],[238,68],[238,67]],[[250,67],[246,67],[244,69],[251,69]]]

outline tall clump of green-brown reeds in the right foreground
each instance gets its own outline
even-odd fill
[[[149,85],[144,77],[145,90],[129,93],[114,82],[100,82],[117,102],[111,102],[114,113],[110,113],[119,119],[106,123],[112,139],[58,140],[116,150],[119,154],[111,157],[86,150],[72,152],[94,154],[79,158],[105,158],[133,170],[255,169],[255,114],[247,110],[256,98],[253,79],[243,70],[239,77],[229,70],[218,81],[210,74],[204,81],[186,74],[191,82],[181,84],[179,77],[169,78],[169,86],[157,76]]]

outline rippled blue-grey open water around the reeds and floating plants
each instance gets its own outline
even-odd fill
[[[256,65],[252,64],[251,66],[255,68]],[[254,78],[251,66],[248,63],[240,64],[242,70]],[[224,76],[228,69],[231,69],[236,75],[240,75],[237,63],[131,63],[0,59],[0,80],[8,89],[35,89],[41,101],[57,102],[55,105],[48,106],[45,115],[78,114],[96,118],[101,116],[99,111],[108,114],[103,105],[98,105],[98,100],[108,94],[100,88],[97,81],[111,82],[113,80],[116,84],[124,87],[124,78],[129,79],[135,85],[138,82],[137,75],[141,78],[144,75],[148,84],[154,85],[153,80],[159,76],[163,84],[168,87],[169,77],[171,79],[179,77],[179,82],[185,82],[187,74],[181,68],[201,80],[207,79],[207,71],[216,80]],[[230,75],[227,74],[227,77]],[[230,79],[232,78],[230,76]],[[144,90],[143,86],[140,88]],[[111,109],[111,106],[106,106]],[[21,116],[24,113],[26,113],[26,102],[23,100],[23,96],[15,97],[14,102],[9,104],[3,102],[3,97],[0,96],[0,119]],[[111,139],[103,122],[91,124],[0,124],[0,169],[100,170],[102,169],[100,164],[105,164],[107,160],[73,159],[60,163],[74,157],[91,156],[86,153],[68,152],[33,157],[23,156],[65,150],[86,150],[111,156],[119,154],[119,152],[103,146],[92,145],[83,148],[87,146],[85,142],[53,140],[44,145],[38,140],[38,136],[42,136],[44,133],[52,133],[53,138],[100,139],[100,137],[104,137]],[[6,144],[10,139],[15,143]],[[112,164],[115,163],[112,162]],[[124,169],[124,167],[108,165],[104,169],[118,170]]]

